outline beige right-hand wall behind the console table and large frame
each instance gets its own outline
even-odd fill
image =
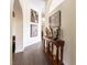
[[[58,4],[58,2],[56,2]],[[65,0],[62,4],[55,7],[47,14],[48,17],[54,14],[56,11],[62,11],[62,30],[63,30],[63,40],[65,41],[64,46],[64,63],[65,65],[76,65],[76,22],[75,22],[75,0]],[[45,23],[46,24],[46,23]],[[48,24],[47,24],[48,25]]]

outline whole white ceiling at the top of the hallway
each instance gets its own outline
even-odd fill
[[[29,0],[34,3],[35,7],[43,9],[44,11],[52,11],[55,7],[59,6],[64,0]]]

